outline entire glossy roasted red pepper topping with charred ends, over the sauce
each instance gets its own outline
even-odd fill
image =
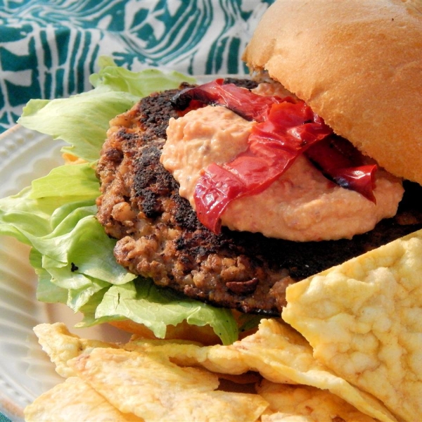
[[[348,141],[343,140],[345,145],[340,148],[332,129],[303,101],[260,96],[223,84],[223,79],[185,89],[174,98],[179,108],[188,107],[191,101],[224,106],[257,122],[248,149],[231,162],[208,166],[196,184],[196,212],[211,231],[219,233],[220,217],[232,200],[264,191],[302,153],[337,184],[375,202],[376,165],[361,165],[360,153]]]

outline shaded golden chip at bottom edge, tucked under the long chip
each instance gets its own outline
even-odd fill
[[[331,392],[306,385],[276,384],[263,380],[257,392],[269,402],[266,412],[269,414],[262,416],[262,422],[375,421]]]

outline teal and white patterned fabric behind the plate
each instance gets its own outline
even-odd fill
[[[273,1],[0,1],[0,132],[30,98],[90,89],[98,56],[131,70],[243,74],[243,49]]]

